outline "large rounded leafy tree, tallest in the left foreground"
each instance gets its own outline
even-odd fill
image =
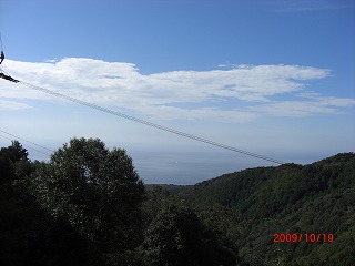
[[[124,150],[72,139],[38,166],[31,187],[53,217],[65,217],[102,254],[124,254],[141,238],[144,186]]]

